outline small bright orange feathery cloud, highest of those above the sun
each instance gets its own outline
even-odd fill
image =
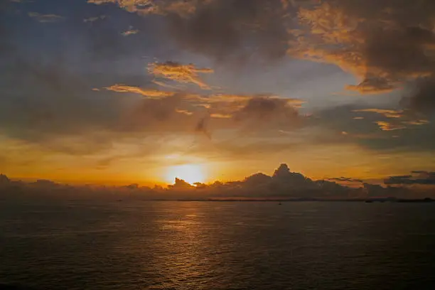
[[[182,65],[167,61],[166,63],[151,63],[148,67],[149,73],[156,77],[163,77],[176,82],[193,83],[200,88],[208,90],[210,87],[201,80],[200,73],[213,73],[210,68],[196,68],[195,65]]]

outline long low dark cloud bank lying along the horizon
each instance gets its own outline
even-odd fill
[[[405,176],[392,177],[386,181],[394,187],[383,187],[376,184],[363,183],[360,188],[350,188],[332,181],[318,180],[313,181],[301,173],[291,172],[289,166],[281,164],[274,171],[272,176],[264,173],[255,173],[247,176],[243,181],[231,181],[222,183],[204,184],[195,183],[190,185],[180,178],[175,179],[173,185],[168,188],[155,187],[154,189],[131,184],[129,186],[110,187],[109,190],[104,186],[67,186],[48,180],[38,180],[34,183],[23,183],[20,181],[10,181],[4,175],[0,175],[0,190],[9,193],[13,198],[20,195],[41,196],[51,195],[52,197],[65,198],[68,194],[73,194],[74,198],[114,198],[123,196],[126,198],[142,199],[168,199],[178,200],[180,198],[192,199],[219,199],[219,198],[282,198],[282,199],[364,199],[364,198],[423,198],[433,196],[433,191],[423,190],[417,192],[407,188],[407,185],[422,184],[434,185],[434,176],[426,179],[410,179]],[[400,186],[403,185],[403,186]],[[14,188],[16,190],[14,190]],[[6,190],[5,190],[6,189]],[[18,190],[17,190],[18,189]],[[128,190],[129,194],[125,195]],[[63,194],[59,194],[63,193]],[[92,193],[92,194],[90,194]],[[98,195],[94,195],[98,194]],[[432,195],[429,195],[432,194]],[[6,196],[6,194],[5,194]]]

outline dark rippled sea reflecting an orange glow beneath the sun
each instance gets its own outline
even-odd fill
[[[0,284],[435,289],[435,205],[1,202]]]

